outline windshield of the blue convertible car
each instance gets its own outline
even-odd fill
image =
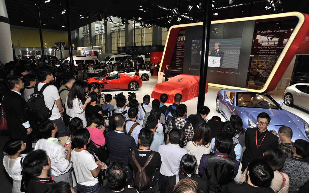
[[[236,106],[281,109],[279,104],[269,94],[255,92],[237,92]]]

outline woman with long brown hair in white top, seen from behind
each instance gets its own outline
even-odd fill
[[[197,165],[200,165],[201,157],[211,151],[210,141],[211,130],[207,124],[200,124],[194,132],[193,140],[189,141],[184,149],[188,154],[197,158]],[[198,170],[196,170],[196,174]]]

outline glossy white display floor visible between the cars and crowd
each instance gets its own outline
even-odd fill
[[[146,94],[151,95],[153,88],[157,84],[157,78],[158,78],[157,76],[151,76],[148,81],[143,81],[142,87],[139,90],[135,91],[137,95],[137,100],[139,103],[142,103],[144,95]],[[225,121],[224,117],[220,113],[218,113],[215,109],[216,97],[217,97],[218,90],[220,89],[222,88],[208,86],[208,92],[205,94],[205,105],[210,108],[210,113],[207,118],[211,119],[212,116],[217,115],[221,117],[222,121]],[[269,92],[269,94],[277,102],[283,102],[282,95],[284,93],[284,90],[285,90],[284,86],[277,86],[277,90],[273,90]],[[128,98],[127,97],[128,91],[129,90],[118,90],[118,91],[112,91],[112,92],[106,92],[106,93],[109,93],[109,94],[112,94],[112,96],[115,96],[115,94],[123,92],[126,98]],[[153,98],[151,98],[151,101],[152,100]],[[113,99],[112,104],[114,105],[115,103],[116,101]],[[188,115],[197,113],[197,97],[184,102],[184,104],[187,105]],[[166,105],[168,106],[169,104],[166,104]],[[283,105],[282,108],[298,115],[303,120],[309,123],[309,112],[301,110],[298,107],[287,107],[286,105]]]

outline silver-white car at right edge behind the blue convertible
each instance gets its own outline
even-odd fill
[[[298,83],[286,88],[282,97],[286,106],[297,106],[309,111],[309,83]]]

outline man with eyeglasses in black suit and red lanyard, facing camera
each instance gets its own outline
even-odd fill
[[[267,130],[270,116],[262,112],[257,115],[256,128],[247,128],[245,134],[246,149],[243,152],[241,172],[247,168],[253,159],[262,159],[263,153],[270,147],[278,147],[278,138]]]

